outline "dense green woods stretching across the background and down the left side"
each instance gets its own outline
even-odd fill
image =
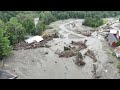
[[[11,46],[23,41],[26,35],[41,35],[51,22],[85,19],[83,25],[98,27],[103,24],[102,18],[118,15],[120,11],[0,11],[0,59],[9,56]],[[36,27],[35,17],[39,17]]]

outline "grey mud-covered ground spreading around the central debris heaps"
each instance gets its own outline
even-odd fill
[[[53,29],[59,31],[61,38],[55,38],[48,42],[50,48],[37,48],[14,51],[14,55],[5,61],[4,69],[11,70],[18,75],[18,79],[91,79],[94,78],[93,64],[96,66],[96,76],[101,79],[120,78],[116,68],[117,59],[112,56],[113,50],[107,41],[101,36],[101,32],[92,32],[90,37],[84,36],[79,31],[94,30],[82,25],[82,19],[60,20],[50,24]],[[76,26],[73,28],[70,23]],[[49,31],[46,30],[46,31]],[[97,58],[97,62],[84,56],[85,65],[77,66],[75,57],[59,57],[56,51],[63,51],[65,45],[71,41],[87,40],[87,48],[81,50],[82,55],[90,49]],[[46,54],[48,52],[48,54]]]

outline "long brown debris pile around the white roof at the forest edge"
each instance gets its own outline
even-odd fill
[[[39,47],[46,47],[49,48],[50,46],[47,45],[46,43],[50,40],[52,40],[53,38],[59,38],[59,33],[55,32],[55,33],[50,33],[50,34],[44,34],[41,38],[43,38],[43,40],[41,40],[40,42],[36,41],[36,40],[32,40],[33,38],[28,39],[31,43],[26,43],[26,42],[20,42],[16,45],[13,46],[13,50],[21,50],[21,49],[35,49],[35,48],[39,48]]]

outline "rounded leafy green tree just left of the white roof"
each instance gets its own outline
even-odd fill
[[[6,24],[7,35],[12,45],[19,43],[24,40],[26,34],[25,28],[22,24],[18,23],[16,17],[12,17],[9,22]]]

